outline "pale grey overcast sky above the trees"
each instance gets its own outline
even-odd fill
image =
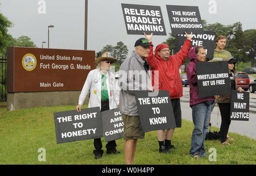
[[[209,2],[216,2],[216,14],[210,13]],[[9,33],[17,38],[29,36],[37,47],[46,41],[48,26],[50,28],[50,48],[84,49],[84,0],[45,0],[46,13],[39,14],[39,0],[0,0],[0,12],[5,15],[14,27]],[[88,0],[88,50],[100,51],[106,44],[125,43],[129,54],[134,43],[142,35],[127,35],[121,3],[160,6],[163,14],[167,36],[154,36],[153,43],[166,41],[171,32],[166,5],[198,6],[201,19],[208,23],[231,25],[241,22],[243,30],[256,28],[255,0]]]

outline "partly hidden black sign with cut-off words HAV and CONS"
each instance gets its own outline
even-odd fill
[[[101,118],[106,142],[123,138],[123,119],[119,108],[102,111]]]

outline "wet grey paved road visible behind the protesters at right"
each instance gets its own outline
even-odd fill
[[[192,121],[192,110],[189,107],[189,87],[183,87],[184,96],[180,98],[182,118]],[[229,132],[236,132],[241,135],[249,136],[256,139],[256,93],[250,93],[249,121],[232,120]],[[212,126],[220,128],[221,115],[220,110],[217,111],[217,104],[211,114]]]

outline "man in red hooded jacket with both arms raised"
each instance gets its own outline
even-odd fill
[[[150,53],[147,58],[148,64],[152,70],[152,86],[155,90],[168,90],[172,102],[172,109],[174,110],[176,127],[181,127],[181,108],[180,97],[183,96],[183,85],[180,79],[179,68],[188,56],[188,52],[191,49],[191,34],[187,34],[187,39],[184,42],[183,47],[174,56],[170,56],[170,48],[167,44],[159,44],[155,48],[155,56],[153,47],[150,47]],[[152,33],[146,35],[146,39],[152,44]],[[154,85],[154,71],[158,71],[158,82]],[[174,129],[158,130],[158,143],[160,153],[170,153],[175,148],[171,144],[172,136],[174,135]]]

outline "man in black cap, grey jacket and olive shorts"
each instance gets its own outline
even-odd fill
[[[146,57],[150,51],[150,43],[144,38],[135,42],[135,50],[122,62],[119,69],[118,84],[121,87],[119,110],[124,123],[123,139],[125,139],[125,163],[134,164],[134,155],[138,139],[144,139],[134,90],[152,91],[149,65]],[[136,71],[136,72],[134,72]],[[146,79],[135,79],[142,76]]]

